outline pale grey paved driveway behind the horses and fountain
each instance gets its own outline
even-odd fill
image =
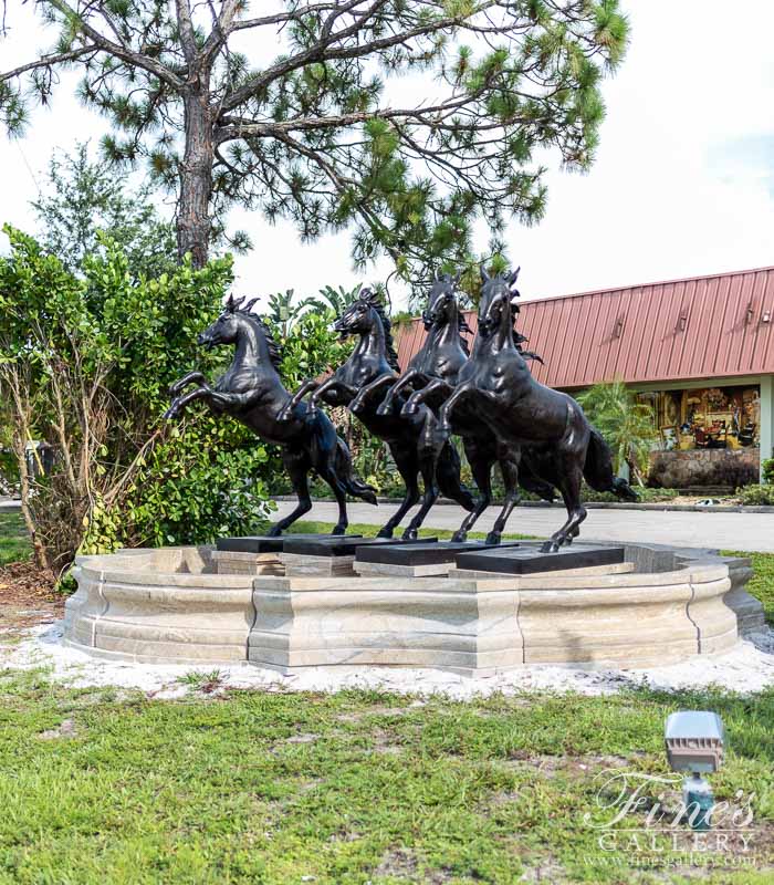
[[[290,501],[279,502],[279,516],[293,509]],[[384,524],[396,510],[395,504],[372,507],[351,502],[351,522]],[[414,513],[415,511],[410,511]],[[451,504],[435,507],[425,525],[435,529],[457,529],[463,510]],[[490,507],[478,521],[478,531],[489,531],[499,509]],[[336,506],[327,501],[315,503],[306,519],[336,521]],[[506,531],[545,538],[558,529],[565,519],[558,508],[517,507],[508,522]],[[409,514],[410,516],[410,514]],[[278,517],[274,517],[278,518]],[[404,525],[407,520],[404,520]],[[724,550],[761,550],[774,552],[774,514],[770,513],[701,513],[669,510],[589,510],[582,538],[598,541],[649,541],[676,546],[709,546]]]

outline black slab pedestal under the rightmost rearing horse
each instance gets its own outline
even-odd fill
[[[555,553],[545,553],[541,546],[541,541],[522,541],[512,548],[490,548],[459,553],[456,558],[457,568],[475,572],[526,575],[624,562],[624,548],[616,544],[575,543],[563,546]]]

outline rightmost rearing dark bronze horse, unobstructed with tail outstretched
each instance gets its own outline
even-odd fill
[[[586,419],[573,397],[536,382],[513,340],[512,291],[519,271],[490,277],[481,269],[483,288],[479,329],[473,353],[462,366],[458,385],[439,412],[438,442],[453,433],[459,408],[473,410],[513,456],[516,469],[522,452],[541,479],[562,493],[567,521],[543,549],[556,551],[572,543],[586,519],[580,485],[610,491],[625,500],[637,500],[629,483],[613,472],[610,450],[598,430]]]

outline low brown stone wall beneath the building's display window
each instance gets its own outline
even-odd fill
[[[649,485],[663,489],[695,486],[739,488],[757,482],[761,450],[688,449],[650,452]]]

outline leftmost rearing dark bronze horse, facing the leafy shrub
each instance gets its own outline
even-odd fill
[[[305,409],[290,406],[291,395],[278,373],[276,342],[263,320],[250,312],[258,299],[242,306],[243,301],[229,298],[220,316],[198,339],[208,350],[221,344],[236,346],[227,372],[213,387],[200,372],[190,372],[172,384],[169,394],[174,398],[165,417],[175,418],[189,403],[201,399],[215,415],[230,415],[261,439],[280,447],[299,504],[272,525],[270,535],[281,534],[312,509],[307,481],[311,470],[331,487],[338,503],[333,534],[344,534],[348,524],[347,492],[375,504],[374,489],[355,475],[346,442],[324,413],[307,415]],[[200,386],[182,394],[190,384]]]

